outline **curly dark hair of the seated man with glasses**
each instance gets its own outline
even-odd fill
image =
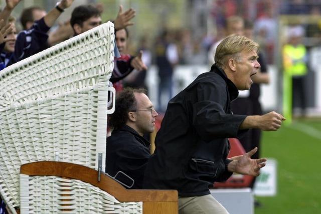
[[[128,112],[136,110],[137,101],[134,93],[144,93],[143,88],[125,88],[116,98],[115,111],[109,116],[108,125],[113,129],[119,129],[128,119]]]

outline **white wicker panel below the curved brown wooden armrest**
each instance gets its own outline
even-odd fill
[[[21,213],[142,213],[142,202],[119,202],[75,179],[20,174]]]

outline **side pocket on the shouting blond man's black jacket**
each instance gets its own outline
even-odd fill
[[[190,161],[190,167],[193,171],[201,174],[207,174],[211,177],[215,177],[218,170],[214,161],[200,158],[192,158]]]

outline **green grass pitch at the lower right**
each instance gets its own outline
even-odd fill
[[[257,197],[255,214],[321,213],[321,119],[264,132],[261,148],[277,160],[277,195]]]

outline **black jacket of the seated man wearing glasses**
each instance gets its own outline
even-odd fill
[[[132,189],[141,189],[143,172],[150,156],[149,142],[127,125],[114,130],[107,138],[106,172],[115,176],[122,171],[134,180]],[[128,179],[119,174],[116,179],[130,185]]]

